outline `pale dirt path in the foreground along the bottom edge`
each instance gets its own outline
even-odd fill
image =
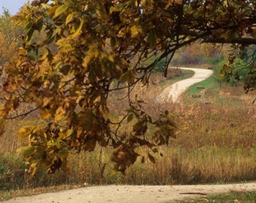
[[[256,183],[197,186],[88,186],[20,197],[8,203],[170,203],[218,192],[255,191]]]

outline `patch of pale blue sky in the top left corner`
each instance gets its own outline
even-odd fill
[[[26,4],[28,0],[0,0],[0,14],[3,12],[3,7],[8,8],[12,15],[16,14],[20,8]],[[31,1],[30,1],[31,2]]]

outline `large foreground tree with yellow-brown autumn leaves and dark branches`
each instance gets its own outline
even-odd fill
[[[40,0],[14,17],[26,35],[6,65],[8,74],[2,118],[23,103],[33,103],[45,126],[26,126],[29,139],[20,148],[30,171],[49,173],[67,168],[69,153],[93,151],[96,144],[112,146],[117,171],[136,162],[137,148],[147,146],[155,162],[157,147],[174,138],[168,111],[152,120],[133,101],[130,90],[148,83],[157,62],[166,59],[164,75],[175,51],[202,43],[256,44],[254,0]],[[36,38],[41,35],[41,38]],[[154,61],[145,61],[156,56]],[[252,69],[251,74],[255,70]],[[118,81],[113,86],[112,81]],[[254,81],[254,79],[253,79]],[[254,84],[248,88],[254,88]],[[108,116],[108,94],[127,89],[130,109],[120,122]],[[8,95],[8,96],[7,96]],[[16,117],[18,117],[17,115]],[[120,131],[123,122],[133,127]],[[148,124],[154,126],[149,136]]]

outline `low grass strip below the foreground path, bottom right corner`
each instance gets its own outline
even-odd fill
[[[231,203],[231,202],[256,202],[256,191],[251,192],[229,192],[224,194],[209,195],[207,197],[198,198],[196,200],[190,201],[180,201],[182,203],[194,202],[194,203],[203,203],[203,202],[219,202],[219,203]]]

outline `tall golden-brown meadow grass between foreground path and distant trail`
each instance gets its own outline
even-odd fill
[[[169,147],[160,148],[163,157],[157,156],[156,164],[147,159],[142,164],[139,158],[123,176],[113,171],[110,162],[112,149],[96,147],[93,153],[70,156],[68,174],[59,171],[47,175],[44,171],[38,171],[35,177],[29,177],[15,149],[25,142],[17,141],[17,129],[31,123],[32,119],[12,120],[5,135],[0,138],[0,178],[7,177],[5,174],[11,177],[2,181],[1,189],[63,183],[194,184],[256,180],[256,108],[249,102],[255,93],[244,95],[240,87],[221,86],[221,89],[206,91],[206,97],[212,99],[209,105],[194,103],[190,98],[186,104],[157,104],[155,98],[160,93],[159,88],[151,85],[147,94],[145,90],[137,88],[132,94],[142,95],[146,102],[145,111],[152,117],[157,117],[160,110],[167,109],[172,112],[178,125],[177,138],[170,141]],[[125,94],[118,92],[110,95],[111,117],[118,119],[125,111],[127,103],[114,100]],[[234,98],[238,105],[230,105]],[[142,154],[147,152],[146,148],[139,150]]]

